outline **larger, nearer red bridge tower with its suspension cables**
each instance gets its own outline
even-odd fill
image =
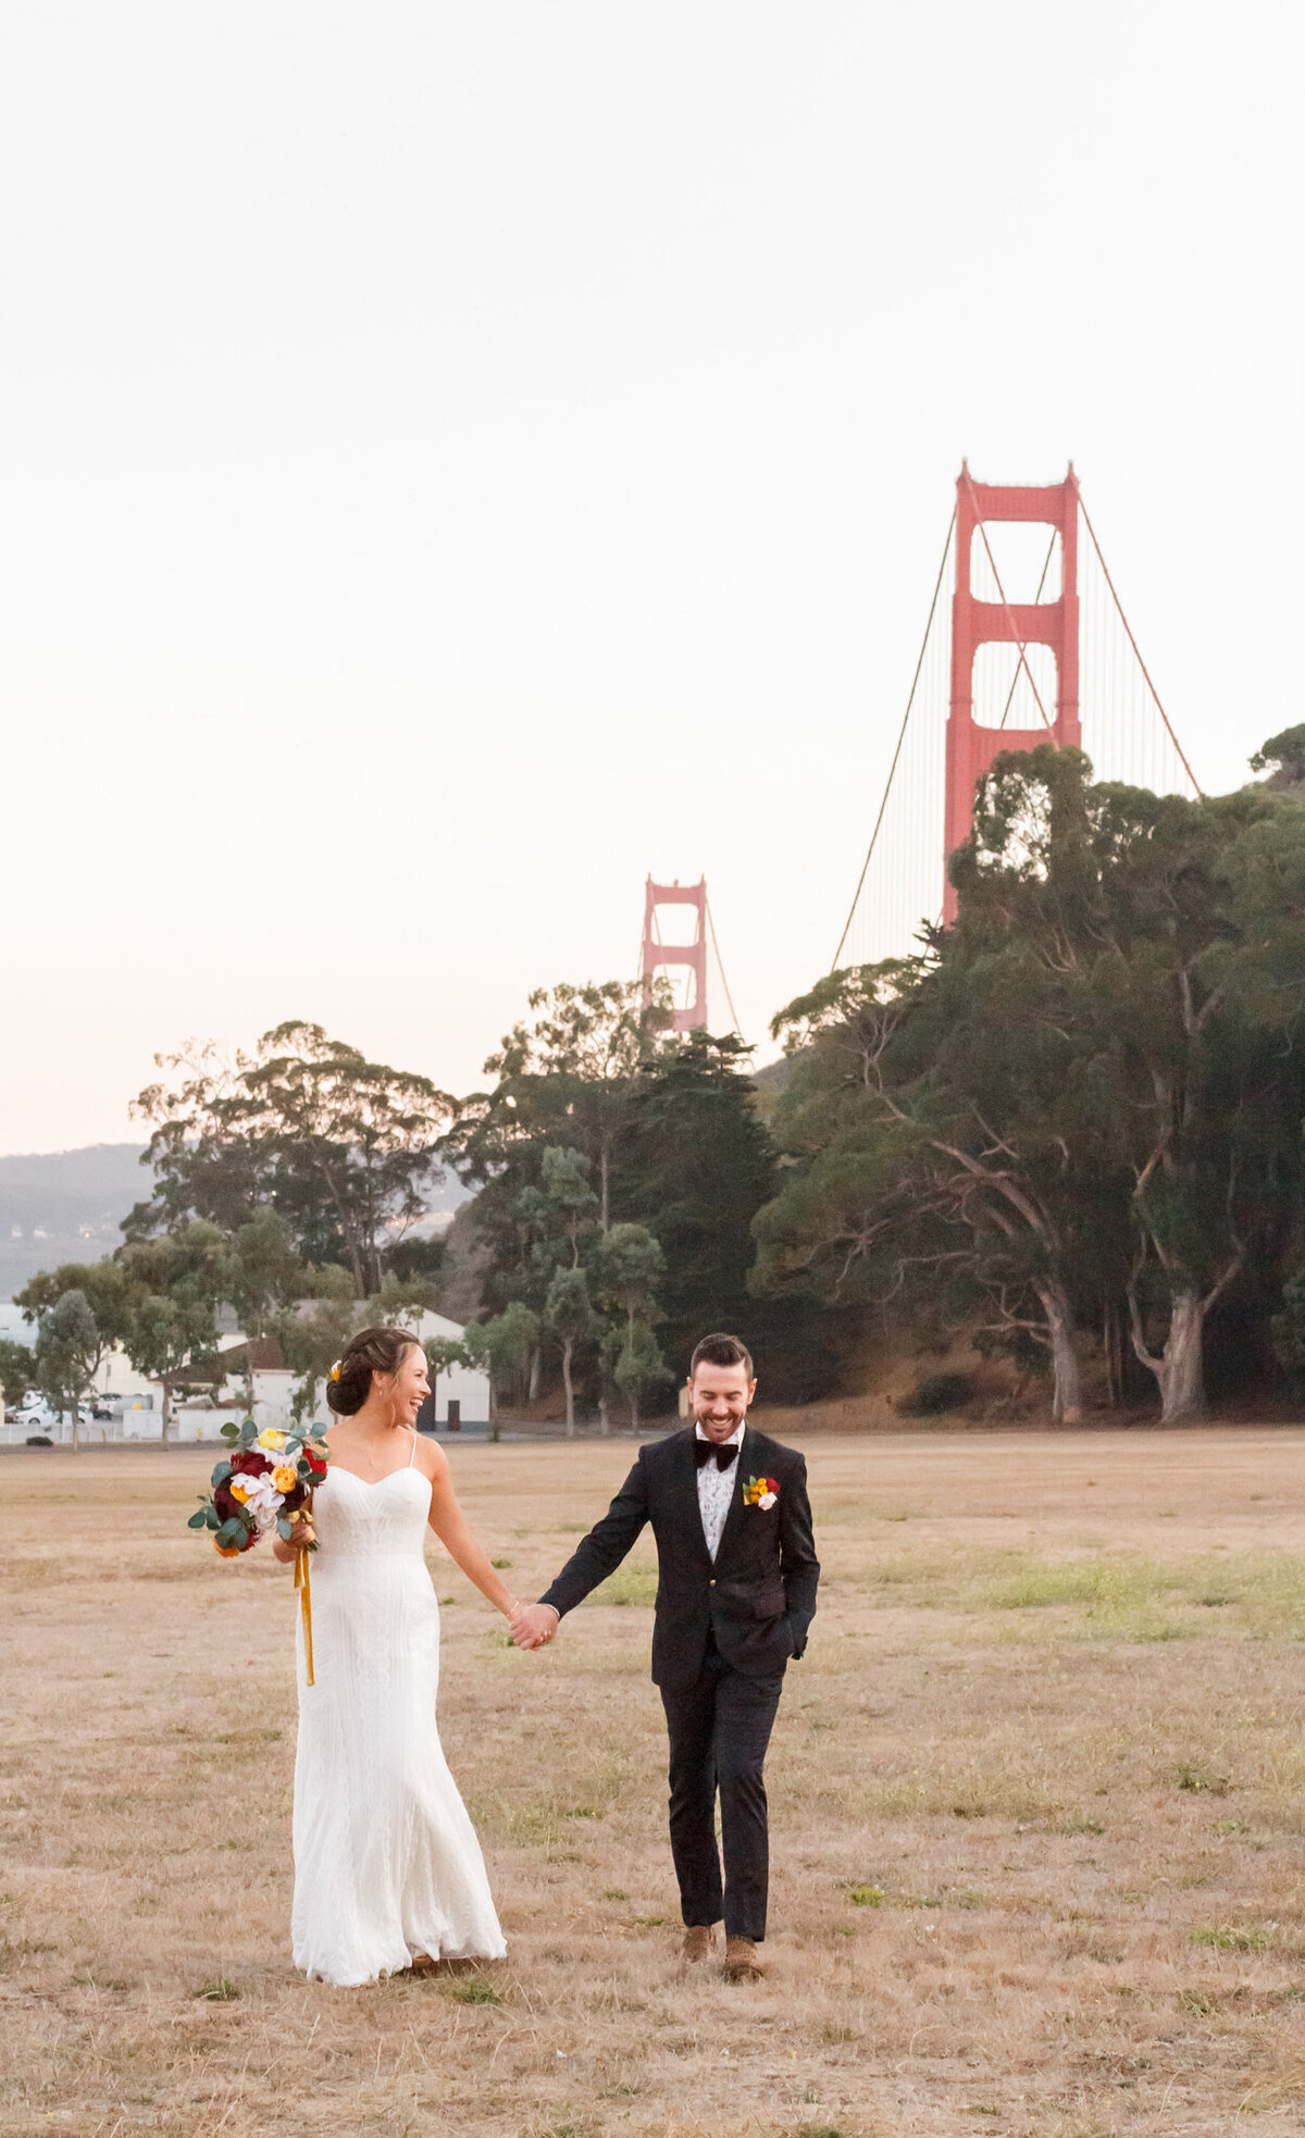
[[[1083,541],[1080,537],[1087,537]],[[952,564],[952,601],[941,601]],[[1074,466],[1042,487],[956,479],[924,641],[834,951],[873,964],[952,921],[948,855],[1001,750],[1083,748],[1095,778],[1200,793],[1132,633]]]

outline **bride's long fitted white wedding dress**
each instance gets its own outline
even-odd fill
[[[413,1439],[413,1456],[417,1441]],[[340,1988],[507,1950],[434,1719],[430,1479],[329,1469],[312,1494],[312,1670],[300,1629],[295,1967]]]

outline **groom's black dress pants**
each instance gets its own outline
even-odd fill
[[[687,1924],[725,1916],[727,1937],[766,1937],[770,1839],[762,1768],[783,1691],[777,1678],[744,1678],[708,1644],[702,1674],[661,1689],[670,1732],[670,1847]],[[721,1856],[717,1854],[721,1792]]]

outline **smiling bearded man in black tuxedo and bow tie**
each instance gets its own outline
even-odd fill
[[[640,1447],[603,1520],[513,1629],[518,1648],[552,1640],[563,1614],[620,1565],[644,1522],[652,1522],[652,1680],[670,1732],[670,1845],[685,1958],[710,1956],[723,1916],[725,1973],[734,1982],[764,1973],[762,1768],[783,1672],[807,1646],[819,1580],[807,1462],[747,1424],[755,1390],[738,1336],[704,1336],[689,1366],[693,1424]]]

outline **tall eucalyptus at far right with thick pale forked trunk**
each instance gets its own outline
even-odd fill
[[[1018,941],[1055,1005],[1097,1172],[1127,1176],[1134,1351],[1162,1417],[1200,1417],[1209,1315],[1299,1214],[1305,812],[1264,787],[1093,787],[1074,750],[1012,753],[952,870],[961,947]],[[1063,1129],[1083,1150],[1072,1112]]]

